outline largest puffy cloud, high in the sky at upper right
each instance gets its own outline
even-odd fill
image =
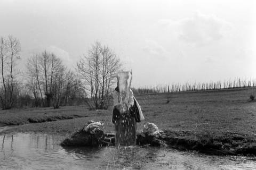
[[[180,40],[198,46],[215,43],[228,37],[233,30],[233,24],[230,22],[200,12],[196,12],[190,18],[178,21],[161,19],[158,24],[163,27],[174,28]]]

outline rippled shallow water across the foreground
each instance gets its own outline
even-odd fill
[[[0,169],[255,169],[256,158],[160,148],[62,148],[65,137],[0,136]]]

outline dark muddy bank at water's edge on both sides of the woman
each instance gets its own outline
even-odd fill
[[[84,130],[76,131],[62,141],[61,146],[114,146],[114,133],[103,133],[98,129],[92,134]],[[149,134],[138,132],[137,145],[174,148],[178,150],[196,150],[210,155],[256,155],[256,140],[253,137],[238,133],[215,135],[206,132],[190,132],[171,130]]]

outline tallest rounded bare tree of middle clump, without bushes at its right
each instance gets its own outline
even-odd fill
[[[63,81],[65,67],[62,61],[53,53],[47,53],[45,50],[43,53],[31,57],[27,65],[30,80],[33,80],[29,83],[34,97],[38,98],[40,95],[42,105],[50,107],[55,92],[59,92],[56,90],[56,86],[59,87]]]

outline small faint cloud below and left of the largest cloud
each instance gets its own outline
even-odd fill
[[[153,57],[156,57],[158,59],[166,59],[169,52],[167,50],[159,45],[154,40],[146,40],[146,45],[142,47],[143,51],[150,54]]]

